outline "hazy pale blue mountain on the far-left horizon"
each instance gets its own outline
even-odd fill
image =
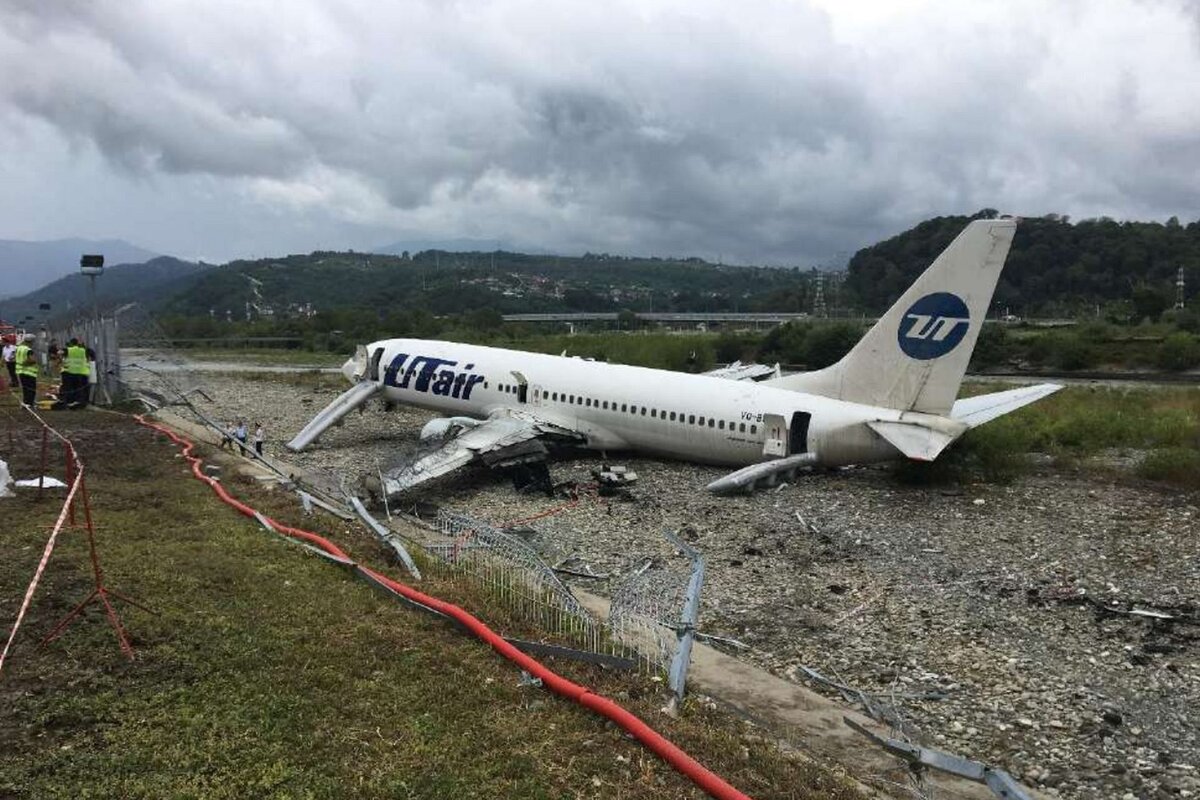
[[[142,264],[160,253],[120,239],[0,239],[0,299],[29,294],[65,275],[79,271],[79,257],[101,253],[106,265]]]

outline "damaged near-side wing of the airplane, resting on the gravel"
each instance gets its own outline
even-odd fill
[[[512,409],[500,409],[476,426],[456,431],[437,450],[385,473],[384,492],[390,497],[410,489],[476,458],[490,467],[540,461],[546,456],[542,438],[580,439],[569,428]]]

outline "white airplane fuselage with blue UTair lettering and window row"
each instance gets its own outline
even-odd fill
[[[824,465],[901,458],[865,423],[912,413],[751,381],[426,339],[366,347],[388,401],[446,416],[527,411],[594,450],[746,465],[811,452]],[[347,369],[352,369],[348,362]],[[349,375],[348,375],[349,377]]]

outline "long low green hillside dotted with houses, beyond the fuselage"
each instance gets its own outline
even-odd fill
[[[701,259],[668,260],[607,254],[526,253],[407,255],[317,252],[259,261],[232,261],[205,275],[164,309],[172,314],[240,317],[251,303],[287,314],[373,307],[454,314],[554,311],[805,311],[806,271],[722,266]]]

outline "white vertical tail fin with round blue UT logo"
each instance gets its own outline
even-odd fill
[[[1015,230],[1015,219],[971,222],[841,361],[766,385],[946,415]]]

